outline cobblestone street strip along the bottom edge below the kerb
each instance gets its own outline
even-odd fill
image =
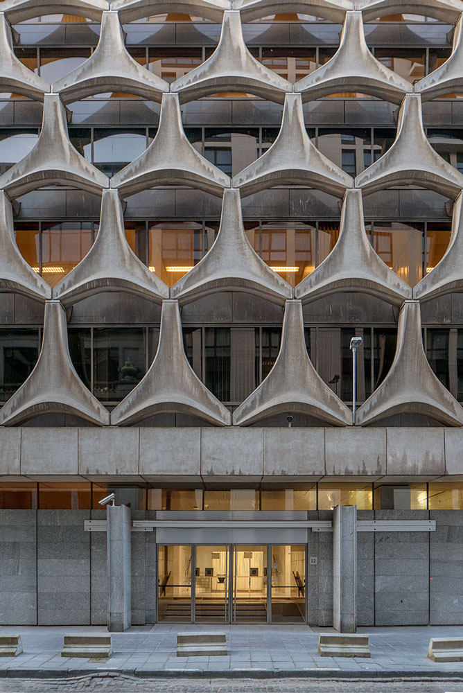
[[[94,674],[66,680],[0,680],[0,693],[67,693],[114,691],[121,693],[445,693],[460,692],[463,681],[307,681],[300,678],[180,679],[152,681],[130,676]]]

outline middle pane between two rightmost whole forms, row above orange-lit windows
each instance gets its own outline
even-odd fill
[[[330,130],[319,128],[317,146],[333,164],[351,176],[360,173],[371,157],[370,130]]]

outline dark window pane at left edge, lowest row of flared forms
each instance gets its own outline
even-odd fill
[[[33,371],[39,347],[37,329],[0,329],[0,401],[6,402]]]

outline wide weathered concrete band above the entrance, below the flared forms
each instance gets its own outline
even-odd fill
[[[462,448],[463,428],[440,427],[0,428],[0,478],[457,480],[463,479]]]

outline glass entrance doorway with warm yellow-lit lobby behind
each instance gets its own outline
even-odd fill
[[[160,545],[157,574],[159,621],[306,621],[305,545]]]

